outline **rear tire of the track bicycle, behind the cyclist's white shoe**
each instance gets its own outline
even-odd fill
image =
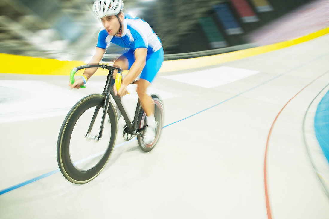
[[[160,138],[160,134],[161,134],[161,129],[162,129],[162,124],[164,121],[164,105],[163,105],[163,101],[161,100],[161,98],[155,94],[151,95],[153,102],[154,102],[154,117],[155,117],[155,121],[158,123],[157,127],[156,127],[156,136],[155,139],[152,143],[150,144],[145,144],[143,142],[143,136],[142,135],[138,135],[137,136],[137,140],[138,140],[138,145],[139,148],[144,151],[144,152],[150,152],[155,145],[157,144],[159,138]],[[139,128],[143,128],[146,125],[145,122],[145,112],[143,110],[143,108],[140,106],[139,108],[139,112],[138,112],[138,119],[137,119],[137,126]]]

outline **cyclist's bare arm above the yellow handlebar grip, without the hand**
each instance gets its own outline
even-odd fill
[[[132,83],[135,78],[139,75],[139,73],[143,70],[146,64],[146,55],[147,55],[147,48],[137,48],[135,50],[135,62],[129,69],[128,74],[122,80],[122,84],[129,85]]]

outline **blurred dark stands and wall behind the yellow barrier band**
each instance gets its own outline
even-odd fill
[[[123,2],[125,13],[144,19],[161,38],[166,60],[271,44],[329,25],[328,0]],[[91,12],[92,3],[93,0],[1,0],[0,53],[89,61],[102,27]],[[103,61],[120,49],[112,44]]]

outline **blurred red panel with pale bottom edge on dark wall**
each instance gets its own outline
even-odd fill
[[[246,0],[231,0],[231,2],[239,13],[242,22],[251,23],[259,21],[258,16]]]

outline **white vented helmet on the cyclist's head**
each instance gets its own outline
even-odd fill
[[[97,18],[117,15],[123,10],[122,0],[96,0],[92,5],[92,11]]]

